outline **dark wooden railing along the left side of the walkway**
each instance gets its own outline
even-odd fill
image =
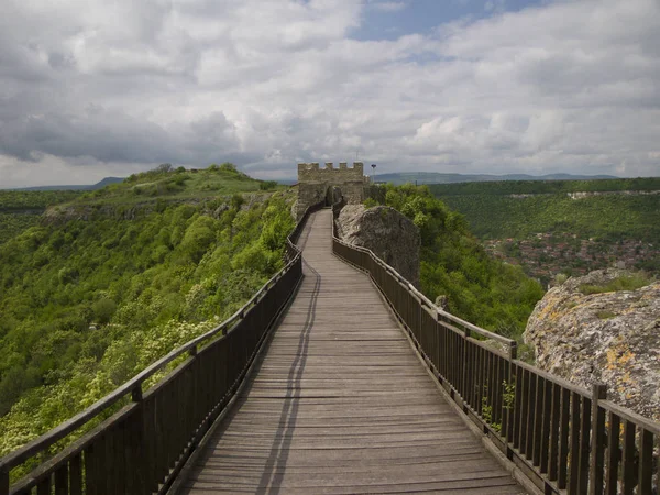
[[[88,409],[0,459],[0,495],[165,493],[240,386],[261,344],[302,274],[296,242],[310,207],[287,239],[286,266],[239,311],[213,330],[175,349]],[[187,358],[186,358],[187,356]],[[186,358],[143,394],[143,383]],[[53,457],[56,442],[121,400],[130,404]],[[10,486],[10,472],[45,459]]]

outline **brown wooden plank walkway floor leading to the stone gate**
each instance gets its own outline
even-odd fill
[[[331,219],[310,218],[298,295],[184,492],[524,493],[444,402],[367,276],[332,255]]]

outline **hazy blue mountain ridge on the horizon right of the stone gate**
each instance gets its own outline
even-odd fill
[[[592,180],[613,179],[614,175],[572,175],[572,174],[443,174],[440,172],[404,172],[394,174],[376,174],[376,182],[399,184],[451,184],[451,183],[486,183],[496,180]]]

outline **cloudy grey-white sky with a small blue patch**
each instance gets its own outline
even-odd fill
[[[660,175],[660,1],[2,1],[0,187],[356,153]]]

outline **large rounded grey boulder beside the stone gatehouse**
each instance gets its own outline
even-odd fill
[[[338,235],[366,248],[419,287],[419,229],[394,208],[346,205],[337,219]]]

